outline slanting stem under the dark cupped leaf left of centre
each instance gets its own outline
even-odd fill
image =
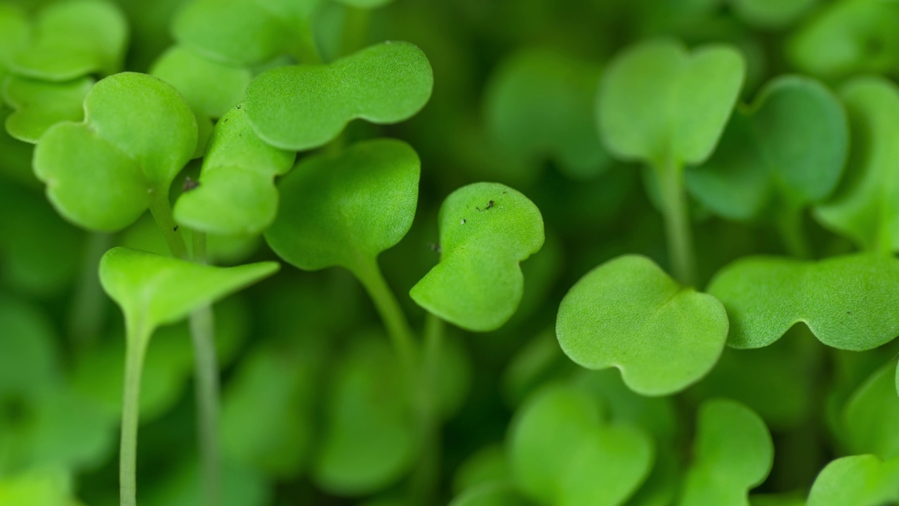
[[[403,309],[396,301],[396,296],[390,290],[390,287],[387,286],[387,281],[384,280],[384,276],[381,274],[378,260],[374,258],[363,260],[352,271],[353,275],[365,287],[366,292],[369,293],[371,301],[375,303],[375,308],[378,310],[381,320],[384,321],[384,326],[387,328],[387,334],[390,336],[396,355],[399,356],[406,374],[409,375],[410,379],[413,379],[416,371],[417,352],[415,350],[415,341],[412,337],[412,330],[409,327],[409,322],[406,321]]]

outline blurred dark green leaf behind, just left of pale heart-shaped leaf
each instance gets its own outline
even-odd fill
[[[599,66],[562,51],[517,53],[487,85],[487,128],[530,170],[551,158],[568,175],[596,176],[610,165],[592,113],[599,80]]]

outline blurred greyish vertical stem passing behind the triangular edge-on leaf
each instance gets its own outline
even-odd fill
[[[193,260],[206,263],[206,234],[191,232]],[[191,313],[191,339],[196,374],[195,395],[199,416],[197,432],[200,435],[200,460],[202,463],[203,489],[206,504],[216,506],[218,494],[218,356],[216,355],[215,318],[211,304],[204,304]]]

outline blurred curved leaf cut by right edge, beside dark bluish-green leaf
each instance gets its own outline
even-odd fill
[[[814,216],[861,248],[899,249],[899,89],[881,77],[858,77],[841,87],[849,112],[852,153],[846,181]]]

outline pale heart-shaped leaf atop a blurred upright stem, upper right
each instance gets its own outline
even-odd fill
[[[612,60],[600,82],[602,140],[617,158],[698,164],[715,149],[743,86],[737,50],[648,41]],[[702,114],[697,114],[702,111]]]

